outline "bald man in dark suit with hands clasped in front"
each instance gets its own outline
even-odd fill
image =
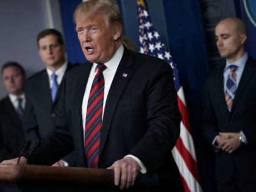
[[[218,191],[256,191],[256,61],[244,49],[246,33],[238,18],[219,21],[216,45],[226,63],[204,85],[202,126],[216,153]]]

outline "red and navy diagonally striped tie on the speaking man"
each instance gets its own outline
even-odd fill
[[[85,154],[89,168],[98,168],[105,84],[102,71],[107,67],[104,64],[98,64],[97,68],[88,98],[85,121]]]

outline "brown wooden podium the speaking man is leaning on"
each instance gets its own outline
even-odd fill
[[[78,167],[0,165],[0,183],[14,183],[22,192],[118,190],[114,185],[112,170]],[[138,174],[132,188],[140,191],[152,189],[157,185],[157,176]]]

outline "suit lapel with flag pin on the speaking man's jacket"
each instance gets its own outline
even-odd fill
[[[124,49],[124,55],[116,70],[116,74],[108,92],[107,101],[105,103],[99,155],[101,155],[102,149],[104,148],[104,144],[107,140],[107,135],[112,124],[116,106],[118,105],[119,99],[121,98],[123,91],[125,90],[130,78],[132,77],[132,74],[134,73],[134,70],[130,68],[130,65],[133,65],[133,63],[132,55],[130,55],[129,52]]]

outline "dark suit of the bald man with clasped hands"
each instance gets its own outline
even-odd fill
[[[236,89],[231,112],[224,96],[223,73],[225,65],[208,74],[204,85],[202,126],[205,138],[212,142],[219,132],[240,132],[248,144],[232,154],[216,152],[215,177],[229,182],[234,176],[244,182],[256,182],[256,61],[249,57]]]

